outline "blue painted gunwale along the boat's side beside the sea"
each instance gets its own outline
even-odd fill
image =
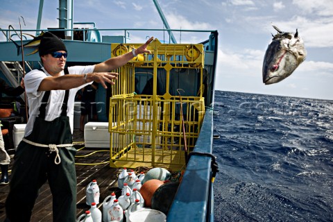
[[[205,113],[195,152],[212,153],[213,110]],[[211,157],[192,155],[169,210],[167,221],[214,221]]]

